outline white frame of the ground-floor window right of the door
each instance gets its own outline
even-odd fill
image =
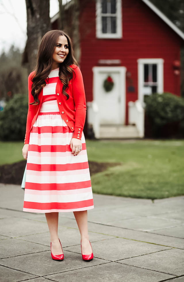
[[[144,64],[157,64],[157,93],[164,92],[164,60],[161,58],[155,59],[138,59],[138,100],[143,103],[144,94],[142,92],[144,84]]]

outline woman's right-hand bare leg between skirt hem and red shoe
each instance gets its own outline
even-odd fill
[[[87,210],[73,212],[73,213],[78,225],[78,229],[81,233],[82,253],[85,255],[89,255],[92,253],[92,249],[89,243],[88,226],[87,226]]]

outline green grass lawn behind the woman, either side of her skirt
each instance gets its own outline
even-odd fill
[[[1,164],[23,160],[23,142],[0,142]],[[91,176],[94,193],[159,199],[184,195],[184,140],[86,140],[89,161],[121,162]]]

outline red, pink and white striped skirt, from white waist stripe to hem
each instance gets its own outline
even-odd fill
[[[93,209],[93,193],[82,132],[82,150],[70,148],[73,132],[62,119],[57,101],[47,101],[30,132],[24,212],[73,212]]]

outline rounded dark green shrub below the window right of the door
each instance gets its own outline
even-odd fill
[[[145,104],[145,113],[151,120],[154,136],[158,137],[164,128],[172,133],[173,126],[175,133],[176,130],[182,129],[184,123],[183,98],[171,93],[155,93],[147,97]]]

